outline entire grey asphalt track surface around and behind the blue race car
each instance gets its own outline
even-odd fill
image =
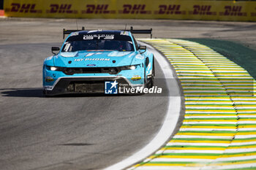
[[[89,29],[125,23],[152,27],[154,37],[227,39],[256,47],[255,23],[78,20]],[[60,45],[61,29],[75,25],[0,20],[1,169],[103,169],[140,150],[161,127],[166,96],[42,96],[42,61],[51,46]]]

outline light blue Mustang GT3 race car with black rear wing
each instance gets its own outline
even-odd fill
[[[61,48],[52,47],[45,59],[42,85],[45,96],[65,93],[130,93],[151,88],[154,55],[132,34],[149,30],[65,30]],[[55,53],[59,51],[59,53]]]

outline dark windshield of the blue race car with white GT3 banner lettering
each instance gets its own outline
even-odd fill
[[[134,51],[130,36],[114,34],[85,34],[69,36],[61,52],[80,50]]]

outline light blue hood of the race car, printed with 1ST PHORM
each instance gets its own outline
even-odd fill
[[[63,67],[115,67],[142,63],[138,52],[126,51],[83,51],[62,52],[53,57],[54,66]]]

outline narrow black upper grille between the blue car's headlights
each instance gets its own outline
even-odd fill
[[[67,75],[72,74],[86,74],[86,73],[108,73],[108,74],[118,74],[121,69],[116,67],[87,67],[87,68],[65,68],[62,72]]]

